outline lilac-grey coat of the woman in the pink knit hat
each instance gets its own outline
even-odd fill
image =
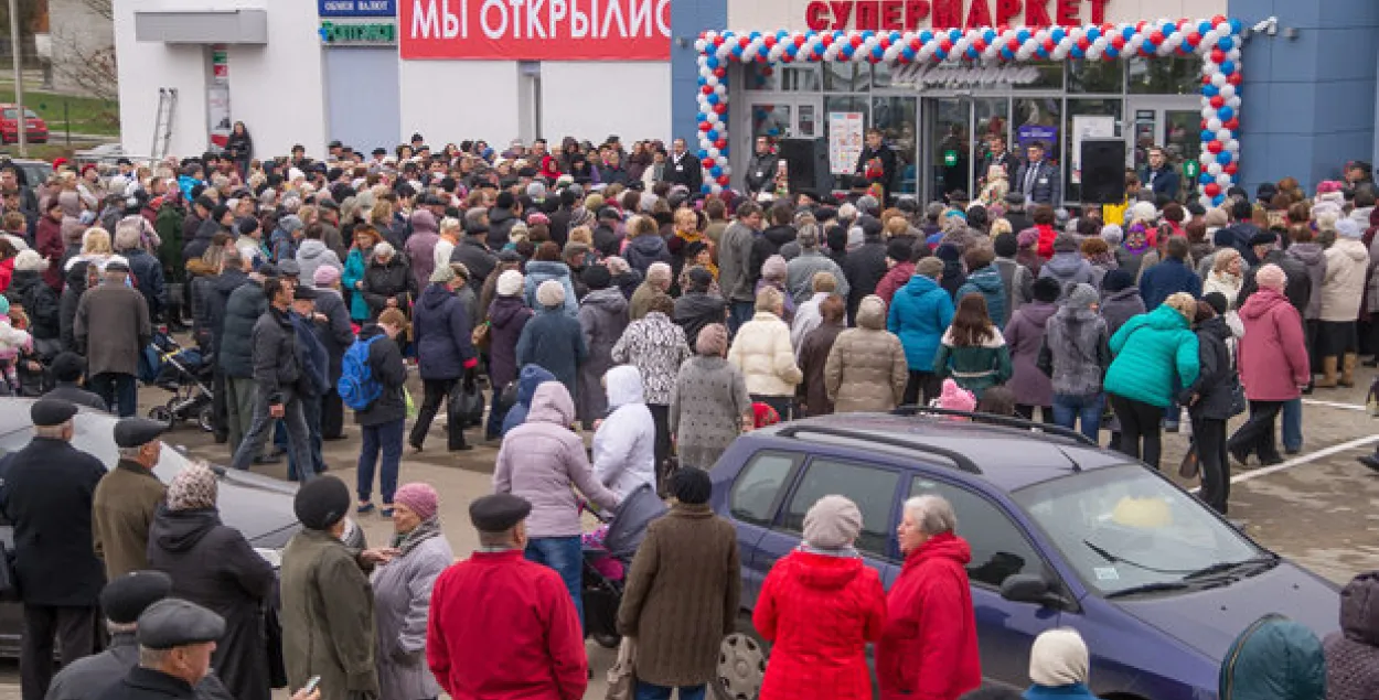
[[[374,570],[381,699],[423,700],[440,694],[440,685],[426,667],[426,616],[432,586],[454,561],[445,536],[437,535]]]

